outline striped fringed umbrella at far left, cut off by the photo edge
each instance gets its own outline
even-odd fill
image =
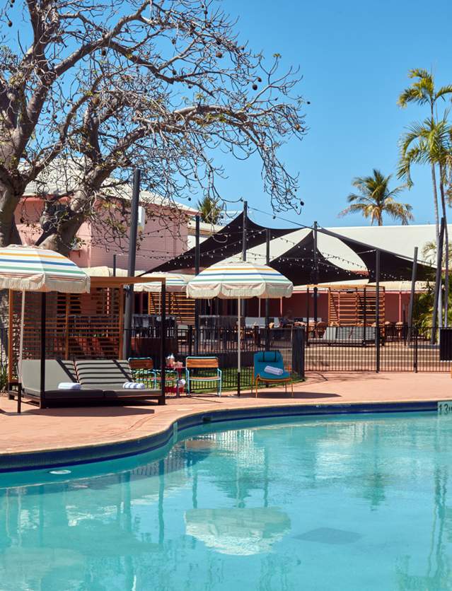
[[[23,324],[25,291],[40,291],[41,299],[41,370],[40,390],[45,390],[45,293],[86,293],[91,279],[71,260],[59,252],[32,246],[9,245],[0,248],[0,289],[22,291],[21,337],[19,344],[19,378],[23,357]],[[18,412],[21,396],[18,394]]]

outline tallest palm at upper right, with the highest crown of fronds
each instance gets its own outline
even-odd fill
[[[402,108],[405,108],[408,103],[415,103],[416,105],[429,105],[431,124],[434,124],[436,102],[439,99],[446,100],[446,96],[452,93],[452,86],[441,86],[439,90],[435,90],[433,74],[422,68],[410,70],[408,73],[408,78],[414,79],[415,82],[402,91],[397,101],[398,105]],[[438,236],[438,192],[436,189],[436,167],[433,162],[431,163],[431,182],[433,185],[436,235]]]

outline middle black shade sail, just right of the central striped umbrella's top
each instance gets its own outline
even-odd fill
[[[279,271],[294,285],[326,283],[328,281],[349,281],[367,279],[366,271],[355,272],[337,267],[317,250],[318,277],[315,273],[314,233],[311,231],[298,244],[273,259],[270,267]]]

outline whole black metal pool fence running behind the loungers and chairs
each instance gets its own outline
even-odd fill
[[[39,331],[37,331],[39,332]],[[46,335],[47,358],[65,358],[69,343],[70,359],[118,358],[121,346],[108,327],[89,332],[72,328],[69,334]],[[0,328],[0,381],[6,380],[8,342],[6,327]],[[159,369],[161,327],[134,328],[131,332],[132,356],[151,357]],[[241,384],[253,381],[253,359],[257,351],[280,351],[284,366],[294,380],[305,372],[448,372],[452,368],[452,329],[431,327],[323,326],[265,329],[245,327],[241,335]],[[34,339],[33,343],[39,339]],[[65,349],[66,347],[66,349]],[[25,358],[39,358],[28,341]],[[216,356],[223,373],[224,390],[237,387],[237,329],[234,327],[177,326],[169,319],[166,327],[166,355],[185,365],[187,356]],[[15,359],[17,351],[15,349]],[[16,365],[16,363],[14,363]],[[198,370],[202,375],[203,370]],[[14,372],[16,373],[16,372]],[[182,372],[182,378],[185,376]],[[209,382],[195,382],[195,390],[212,390]]]

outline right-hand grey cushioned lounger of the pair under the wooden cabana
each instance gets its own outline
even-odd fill
[[[156,398],[158,404],[165,404],[160,389],[135,390],[122,387],[125,382],[133,382],[132,370],[128,361],[83,359],[76,361],[75,365],[81,385],[85,388],[93,388],[93,390],[102,389],[106,401]]]

